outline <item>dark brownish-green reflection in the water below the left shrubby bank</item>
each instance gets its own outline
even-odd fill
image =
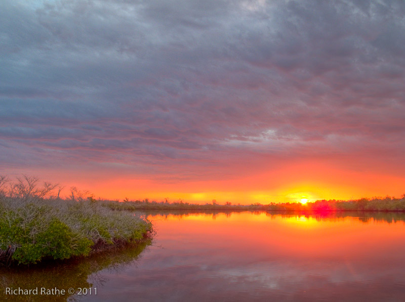
[[[39,264],[32,268],[10,267],[0,269],[0,300],[10,301],[74,301],[77,295],[69,295],[67,289],[89,288],[102,286],[106,281],[99,271],[103,269],[120,270],[126,265],[137,261],[141,252],[150,245],[151,240],[145,240],[137,245],[127,245],[112,248],[102,253],[83,259]],[[6,287],[14,289],[34,289],[38,287],[38,295],[6,295]],[[66,294],[39,295],[41,287],[65,289]],[[100,290],[100,289],[98,289]]]

